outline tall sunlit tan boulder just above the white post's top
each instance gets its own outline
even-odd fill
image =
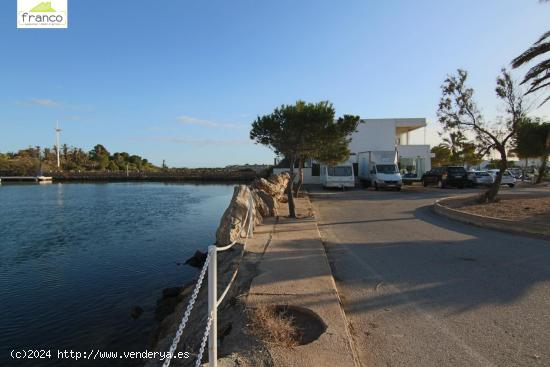
[[[220,225],[216,231],[216,244],[226,246],[246,235],[246,221],[249,206],[250,189],[248,186],[235,186],[229,206],[223,213]],[[253,208],[254,209],[254,208]],[[254,210],[256,212],[256,210]],[[253,213],[253,216],[255,213]],[[253,217],[254,218],[254,217]],[[256,222],[256,219],[254,218]]]

